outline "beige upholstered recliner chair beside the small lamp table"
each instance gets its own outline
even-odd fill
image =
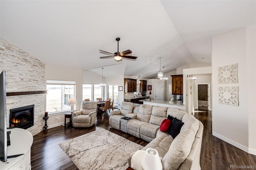
[[[96,122],[97,102],[82,101],[80,111],[72,114],[73,127],[91,127]]]

